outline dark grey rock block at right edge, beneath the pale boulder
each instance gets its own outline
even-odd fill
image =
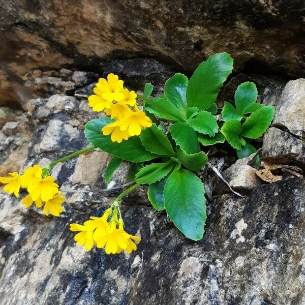
[[[271,127],[264,134],[261,157],[270,163],[305,165],[305,148],[302,140],[287,131]]]

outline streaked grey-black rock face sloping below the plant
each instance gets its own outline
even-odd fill
[[[8,214],[1,222],[0,292],[6,302],[295,305],[305,300],[300,179],[262,186],[245,199],[216,197],[208,202],[213,212],[205,237],[196,243],[165,223],[164,214],[125,200],[126,227],[142,241],[136,252],[120,256],[85,252],[68,229],[87,215],[101,215],[107,198],[85,215],[67,208],[68,200],[64,217],[49,219],[12,197],[2,200]]]

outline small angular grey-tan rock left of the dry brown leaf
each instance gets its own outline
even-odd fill
[[[260,185],[260,180],[256,176],[256,169],[249,165],[253,156],[254,154],[248,158],[236,160],[233,165],[223,172],[223,177],[238,192],[251,192]]]

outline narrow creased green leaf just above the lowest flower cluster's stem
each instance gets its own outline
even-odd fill
[[[168,175],[175,166],[176,163],[172,160],[169,160],[166,163],[146,165],[136,174],[136,181],[139,184],[153,184]]]

